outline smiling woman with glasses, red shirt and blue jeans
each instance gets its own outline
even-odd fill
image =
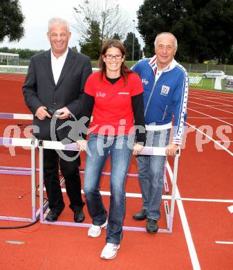
[[[140,154],[145,143],[142,82],[127,68],[124,60],[122,43],[107,39],[102,45],[100,71],[89,76],[84,90],[84,116],[90,118],[93,114],[91,135],[88,143],[77,141],[80,151],[87,152],[84,193],[93,219],[88,236],[98,237],[107,226],[106,246],[100,255],[104,259],[115,258],[120,248],[127,170],[132,152]],[[140,130],[135,132],[136,126]],[[100,195],[100,177],[108,154],[111,158],[111,198],[107,219]]]

